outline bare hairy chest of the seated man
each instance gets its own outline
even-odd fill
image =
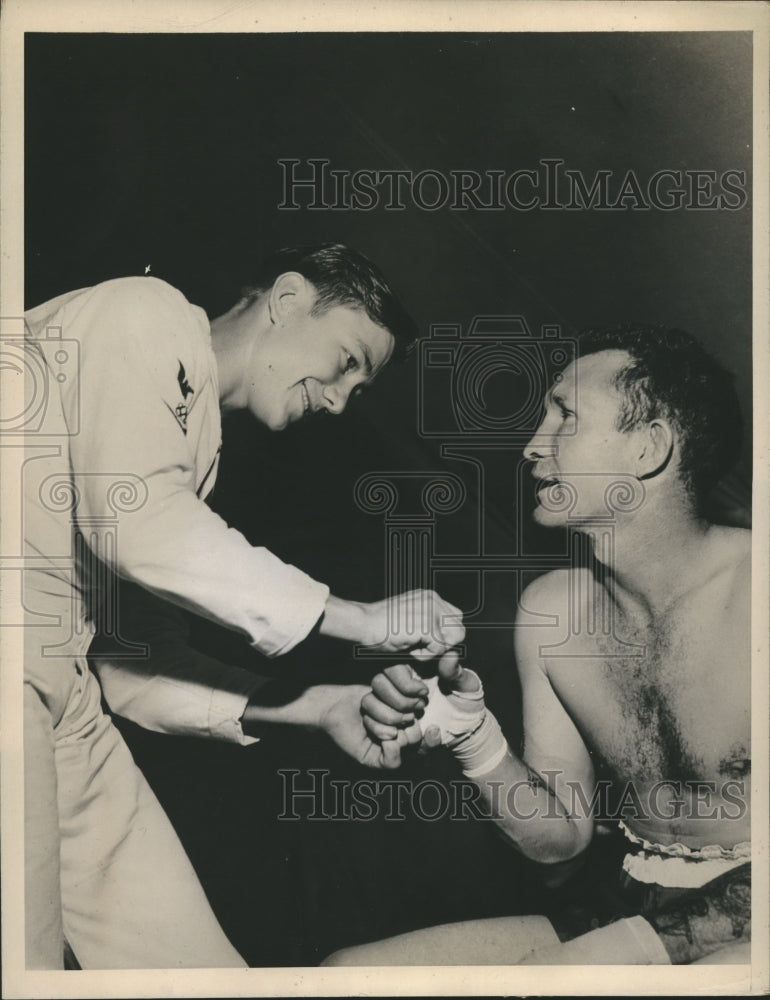
[[[548,660],[586,744],[618,778],[648,784],[745,776],[748,609],[703,597],[654,622],[611,616],[609,629],[578,633],[573,648],[582,655]]]

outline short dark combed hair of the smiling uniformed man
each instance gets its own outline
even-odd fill
[[[315,288],[311,315],[321,316],[332,306],[362,308],[373,323],[393,335],[394,360],[403,360],[412,350],[417,324],[379,268],[343,243],[286,247],[271,254],[262,262],[254,282],[243,289],[244,307],[269,291],[276,278],[287,271],[301,274]]]

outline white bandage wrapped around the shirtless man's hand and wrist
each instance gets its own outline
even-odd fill
[[[441,743],[455,755],[468,778],[479,778],[497,767],[508,744],[497,719],[484,705],[484,687],[473,670],[465,668],[478,683],[475,691],[452,691],[445,695],[437,677],[425,681],[428,705],[420,719],[425,734],[432,726],[441,733]]]

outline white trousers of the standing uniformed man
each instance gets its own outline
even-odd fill
[[[244,967],[85,660],[26,659],[27,968]]]

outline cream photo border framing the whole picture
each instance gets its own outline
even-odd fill
[[[754,39],[753,348],[754,478],[752,638],[752,842],[754,884],[768,881],[768,15],[764,3],[519,2],[519,0],[385,0],[349,3],[306,0],[6,0],[0,24],[0,222],[3,266],[0,302],[5,317],[23,312],[23,53],[24,33],[277,31],[750,31]],[[3,483],[8,502],[14,483]],[[18,501],[17,501],[18,502]],[[12,519],[11,519],[12,520]],[[0,552],[8,522],[0,522]],[[246,996],[474,996],[760,994],[768,975],[768,900],[755,892],[752,965],[702,967],[411,967],[406,969],[288,968],[27,972],[23,956],[23,764],[20,739],[20,629],[0,633],[0,788],[2,789],[3,995],[15,997],[246,997]]]

